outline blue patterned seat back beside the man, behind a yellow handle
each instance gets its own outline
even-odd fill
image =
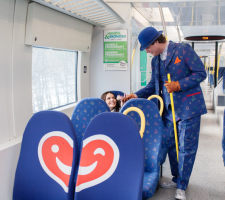
[[[141,109],[145,115],[145,131],[143,142],[145,146],[145,172],[156,172],[159,170],[160,150],[162,146],[163,123],[159,114],[159,109],[152,100],[147,99],[131,99],[127,101],[121,108],[123,113],[129,107],[137,107]],[[128,113],[139,125],[141,119],[138,113]]]

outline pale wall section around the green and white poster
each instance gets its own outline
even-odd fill
[[[100,98],[102,93],[109,90],[121,90],[130,93],[130,48],[131,48],[131,5],[130,3],[109,3],[126,23],[115,23],[105,28],[95,26],[92,36],[92,47],[90,57],[90,96]],[[126,71],[104,71],[103,70],[103,30],[127,29],[127,58],[128,67]]]

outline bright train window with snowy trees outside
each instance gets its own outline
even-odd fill
[[[33,47],[33,112],[77,101],[77,52]]]

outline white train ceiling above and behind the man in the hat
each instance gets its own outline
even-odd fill
[[[179,42],[177,28],[180,30],[182,42],[187,42],[184,40],[187,36],[225,36],[225,0],[142,0],[142,3],[140,3],[141,1],[129,2],[132,3],[133,7],[158,31],[163,30],[158,3],[160,2],[169,40]],[[134,28],[132,34],[138,35],[143,28],[145,27]],[[212,52],[215,52],[215,41],[212,43],[195,43],[194,48],[201,56],[212,55]],[[225,51],[223,50],[222,52]]]

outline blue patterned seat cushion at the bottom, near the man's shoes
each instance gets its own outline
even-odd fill
[[[148,199],[153,196],[155,193],[155,189],[158,184],[159,174],[158,172],[144,172],[144,180],[143,180],[143,193],[142,197]]]

